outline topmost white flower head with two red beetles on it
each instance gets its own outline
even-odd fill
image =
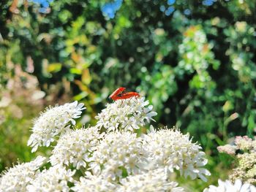
[[[107,107],[95,117],[97,127],[104,127],[107,131],[133,131],[145,126],[153,120],[153,116],[157,112],[152,112],[152,105],[148,105],[149,101],[145,101],[145,97],[131,99],[123,99],[107,104]]]

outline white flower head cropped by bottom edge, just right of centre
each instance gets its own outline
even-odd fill
[[[143,174],[130,175],[121,180],[121,184],[118,192],[184,191],[184,188],[178,187],[178,183],[168,179],[164,169],[154,169]]]

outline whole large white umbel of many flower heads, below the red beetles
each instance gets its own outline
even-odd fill
[[[148,104],[145,98],[114,101],[99,113],[96,126],[80,129],[70,126],[83,104],[48,108],[35,121],[29,145],[34,152],[59,137],[50,168],[39,171],[42,157],[18,165],[0,178],[0,191],[184,191],[171,179],[174,170],[206,181],[205,153],[189,134],[175,128],[135,133],[157,115]]]

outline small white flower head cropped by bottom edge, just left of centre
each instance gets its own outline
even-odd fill
[[[101,175],[90,175],[89,177],[80,177],[80,181],[75,182],[75,186],[72,187],[72,191],[83,192],[114,192],[118,185],[111,183]]]

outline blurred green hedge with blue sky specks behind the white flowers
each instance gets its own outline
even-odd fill
[[[0,172],[48,153],[26,146],[46,106],[78,100],[94,125],[122,86],[202,145],[209,183],[226,179],[217,146],[255,134],[255,27],[256,0],[1,0]]]

